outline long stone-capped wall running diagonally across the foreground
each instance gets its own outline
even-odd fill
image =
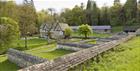
[[[41,64],[36,64],[19,71],[67,71],[69,68],[74,67],[88,59],[95,57],[96,55],[116,47],[117,45],[128,41],[136,34],[130,34],[125,38],[106,42],[104,44],[94,46],[88,49],[84,49],[75,53],[71,53],[62,57],[59,57],[52,61],[46,61]]]

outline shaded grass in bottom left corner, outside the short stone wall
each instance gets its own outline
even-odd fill
[[[6,55],[0,55],[0,71],[17,71],[18,66],[7,60]]]

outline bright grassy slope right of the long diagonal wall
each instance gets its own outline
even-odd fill
[[[82,64],[71,71],[140,71],[140,37],[135,37],[123,43],[114,51],[107,51],[100,62],[88,60],[89,64]]]

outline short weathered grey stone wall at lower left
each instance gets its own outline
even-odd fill
[[[47,61],[47,59],[32,56],[11,48],[8,50],[7,56],[10,62],[15,63],[22,68]]]

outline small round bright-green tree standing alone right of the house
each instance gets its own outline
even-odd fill
[[[89,25],[83,24],[83,25],[79,26],[78,32],[80,35],[84,35],[85,39],[86,39],[92,33],[92,29]]]

